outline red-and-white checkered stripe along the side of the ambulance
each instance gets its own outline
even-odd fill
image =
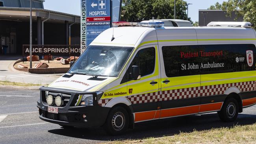
[[[212,96],[224,94],[230,87],[237,87],[241,92],[256,90],[256,81],[246,81],[239,83],[227,83],[221,85],[208,85],[201,87],[190,87],[185,89],[165,90],[160,92],[151,92],[147,94],[138,94],[134,96],[127,96],[132,104],[160,102],[167,100],[179,100],[184,98],[196,98],[200,96]],[[104,107],[111,99],[100,99],[98,104]]]

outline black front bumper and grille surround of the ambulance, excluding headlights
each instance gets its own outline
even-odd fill
[[[58,107],[58,114],[48,113],[48,104],[44,102],[45,91],[71,94],[70,100],[65,107]],[[93,106],[70,106],[74,98],[79,94],[93,94]],[[37,101],[39,118],[46,122],[76,127],[102,126],[108,116],[110,108],[98,105],[96,92],[81,92],[76,90],[56,89],[50,87],[40,88],[40,100]],[[52,107],[52,106],[50,106]],[[82,115],[86,117],[83,118]]]

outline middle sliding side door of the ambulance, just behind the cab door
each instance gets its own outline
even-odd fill
[[[161,62],[160,118],[197,114],[201,98],[195,30],[159,30],[157,35]]]

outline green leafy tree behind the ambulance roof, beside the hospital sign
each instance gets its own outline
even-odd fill
[[[176,0],[176,18],[187,19],[186,2]],[[174,18],[174,0],[123,0],[121,20],[141,22],[142,20]],[[189,18],[190,20],[190,18]]]

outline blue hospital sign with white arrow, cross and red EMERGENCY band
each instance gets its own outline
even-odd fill
[[[86,45],[88,46],[102,31],[110,28],[110,0],[88,0],[86,2]]]

